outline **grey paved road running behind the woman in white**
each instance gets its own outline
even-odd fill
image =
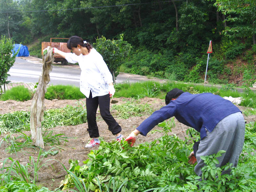
[[[15,63],[9,70],[8,80],[11,81],[10,84],[6,85],[6,90],[16,86],[18,83],[33,89],[35,84],[38,82],[39,75],[42,72],[42,59],[35,57],[16,57]],[[49,85],[75,85],[79,87],[81,70],[79,66],[76,65],[61,65],[56,64],[52,67],[52,72],[50,73]],[[161,79],[148,79],[146,76],[132,75],[126,73],[120,73],[116,77],[116,83],[122,82],[139,82],[139,81],[150,81],[155,80],[163,82]]]

